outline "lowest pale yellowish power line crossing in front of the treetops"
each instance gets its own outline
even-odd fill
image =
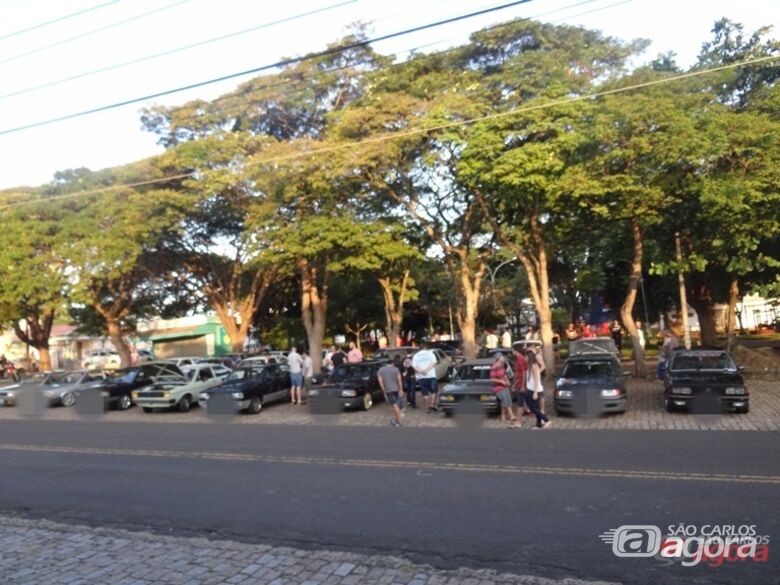
[[[739,61],[736,63],[729,63],[727,65],[721,65],[719,67],[711,67],[709,69],[699,69],[696,71],[688,71],[686,73],[680,73],[678,75],[672,75],[669,77],[664,77],[661,79],[655,79],[652,81],[645,81],[642,83],[636,83],[633,85],[627,85],[624,87],[618,87],[615,89],[608,89],[604,91],[598,91],[593,92],[589,94],[583,94],[580,96],[575,97],[568,97],[568,98],[561,98],[557,100],[552,100],[549,102],[544,102],[541,104],[535,104],[532,106],[525,106],[525,107],[517,107],[513,108],[506,112],[498,112],[495,114],[487,114],[485,116],[478,116],[476,118],[468,118],[465,120],[458,120],[456,122],[448,122],[446,124],[440,124],[439,126],[434,126],[430,128],[418,128],[415,130],[407,130],[404,132],[397,132],[397,133],[391,133],[391,134],[382,134],[379,136],[374,136],[371,138],[366,138],[364,140],[356,140],[353,142],[344,142],[341,144],[334,144],[332,146],[326,146],[322,148],[316,148],[313,150],[309,150],[307,152],[296,152],[288,155],[282,155],[282,156],[276,156],[276,157],[270,157],[260,160],[255,160],[252,162],[247,163],[244,165],[245,168],[247,167],[253,167],[261,164],[269,164],[269,163],[276,163],[276,162],[283,162],[286,160],[292,160],[296,158],[304,158],[304,157],[311,157],[318,154],[326,154],[338,150],[343,149],[352,149],[352,148],[359,148],[361,146],[367,145],[367,144],[379,144],[382,142],[389,142],[392,140],[398,140],[400,138],[409,138],[412,136],[419,136],[422,134],[430,134],[431,132],[439,132],[441,130],[449,130],[451,128],[458,128],[463,126],[470,126],[471,124],[476,124],[477,122],[486,122],[489,120],[498,120],[503,118],[509,118],[511,116],[516,116],[518,114],[525,114],[528,112],[536,112],[540,110],[547,110],[550,108],[555,108],[558,106],[566,106],[569,104],[586,101],[586,100],[592,100],[596,98],[606,97],[610,95],[618,95],[622,93],[627,93],[630,91],[634,91],[637,89],[644,89],[647,87],[654,87],[659,85],[664,85],[667,83],[673,83],[675,81],[680,81],[682,79],[690,79],[692,77],[701,77],[703,75],[708,75],[710,73],[717,73],[719,71],[726,71],[729,69],[736,69],[739,67],[745,67],[747,65],[755,65],[758,63],[766,63],[768,61],[774,61],[780,59],[780,55],[770,55],[768,57],[757,57],[754,59],[747,59],[745,61]],[[134,187],[141,187],[141,186],[149,186],[149,185],[157,185],[162,183],[168,183],[170,181],[179,180],[179,179],[186,179],[189,177],[193,177],[196,174],[198,174],[200,171],[192,171],[188,173],[181,173],[178,175],[173,175],[170,177],[163,177],[161,179],[150,179],[147,181],[139,181],[137,183],[126,183],[121,185],[112,185],[110,187],[101,187],[98,189],[90,189],[87,191],[78,191],[75,193],[66,193],[63,195],[54,195],[51,197],[42,197],[39,199],[36,199],[35,201],[22,201],[22,202],[15,202],[15,203],[7,203],[7,204],[0,204],[0,209],[11,209],[14,207],[22,207],[24,205],[34,205],[36,203],[49,203],[51,201],[57,201],[62,199],[71,199],[75,197],[82,197],[85,195],[96,195],[100,193],[108,193],[111,191],[117,191],[119,189],[128,189],[128,188],[134,188]]]

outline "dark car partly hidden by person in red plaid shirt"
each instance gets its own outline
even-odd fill
[[[493,359],[481,358],[463,362],[453,373],[452,381],[439,391],[439,408],[445,414],[498,413],[498,400],[490,384]],[[512,369],[507,367],[512,378]]]

